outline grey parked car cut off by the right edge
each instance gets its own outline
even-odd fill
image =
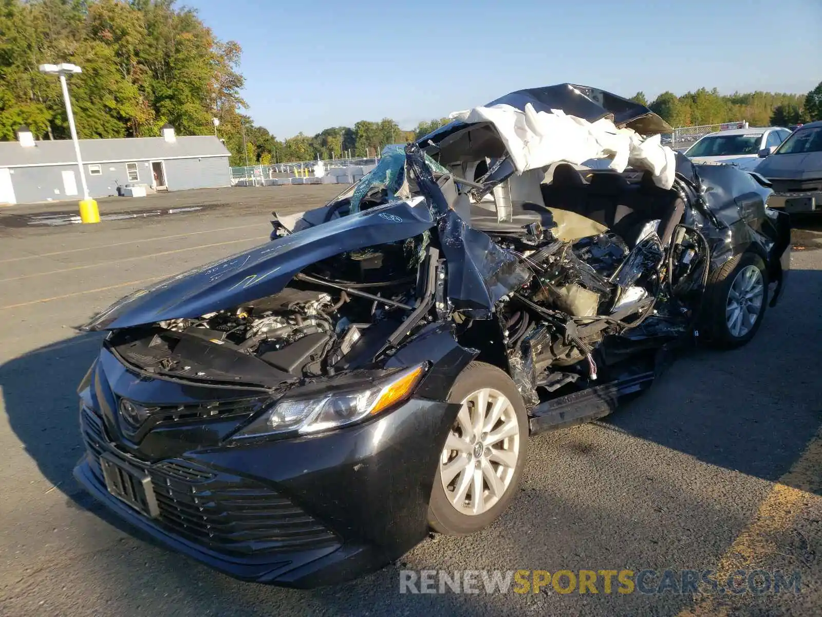
[[[822,121],[803,124],[755,171],[773,184],[768,205],[786,212],[822,210]]]

